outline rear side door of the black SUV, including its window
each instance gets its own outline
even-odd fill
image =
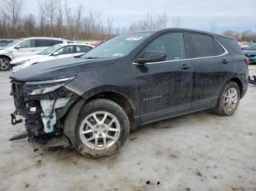
[[[188,32],[189,51],[193,61],[192,111],[217,105],[219,94],[232,70],[230,55],[214,36]]]

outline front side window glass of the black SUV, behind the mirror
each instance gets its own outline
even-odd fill
[[[186,58],[184,36],[182,33],[170,33],[159,36],[140,55],[146,55],[146,52],[166,53],[166,61],[184,59]]]

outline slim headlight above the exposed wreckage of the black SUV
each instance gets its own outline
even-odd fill
[[[31,91],[30,95],[39,95],[44,93],[50,93],[53,90],[56,90],[59,87],[66,85],[72,79],[75,79],[75,77],[65,77],[61,79],[26,82],[26,85],[38,87],[38,88],[34,88],[34,90]]]

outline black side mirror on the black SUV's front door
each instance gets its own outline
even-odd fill
[[[147,51],[143,52],[139,58],[137,58],[137,63],[153,63],[166,61],[167,54],[166,52],[157,52],[157,51]]]

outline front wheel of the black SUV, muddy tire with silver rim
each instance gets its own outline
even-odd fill
[[[128,135],[129,119],[124,109],[108,99],[95,99],[80,109],[75,128],[75,149],[86,157],[108,157],[121,149]]]

